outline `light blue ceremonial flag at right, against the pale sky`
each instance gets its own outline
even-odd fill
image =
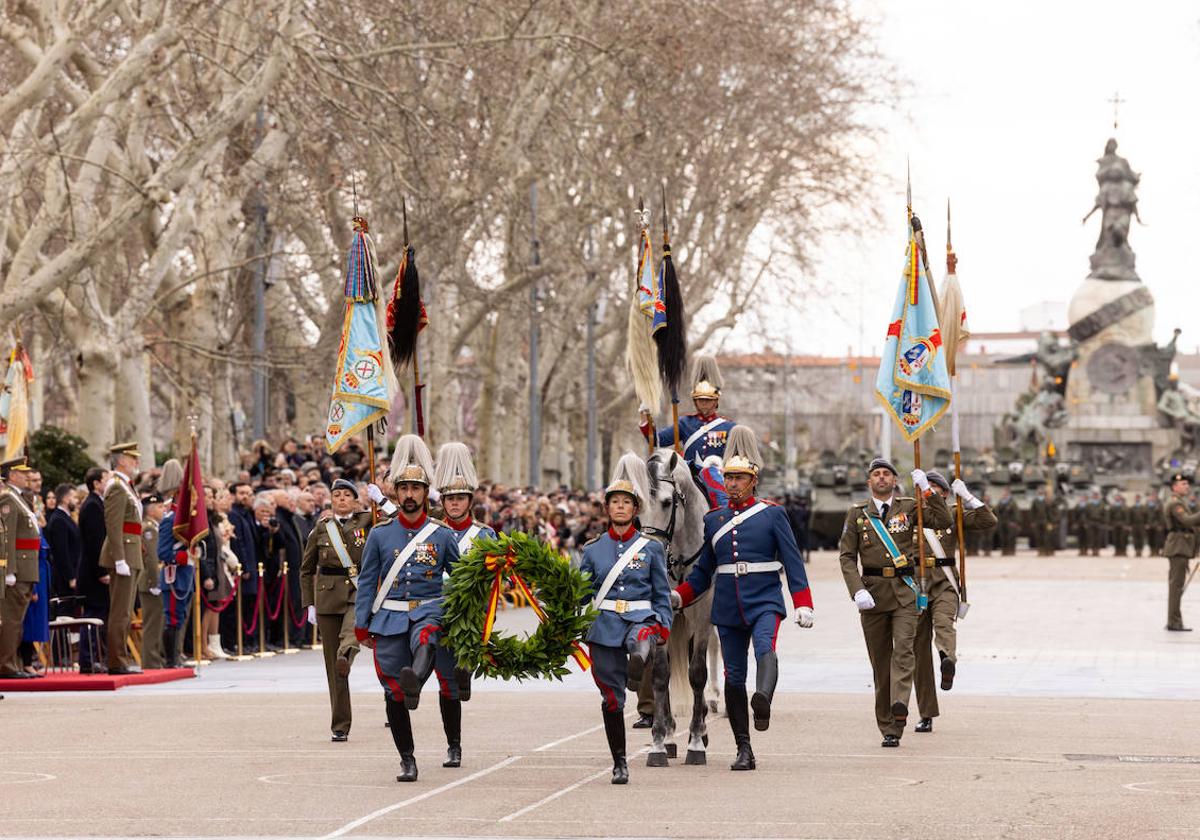
[[[908,222],[908,251],[875,379],[875,396],[912,443],[950,406],[937,301]]]

